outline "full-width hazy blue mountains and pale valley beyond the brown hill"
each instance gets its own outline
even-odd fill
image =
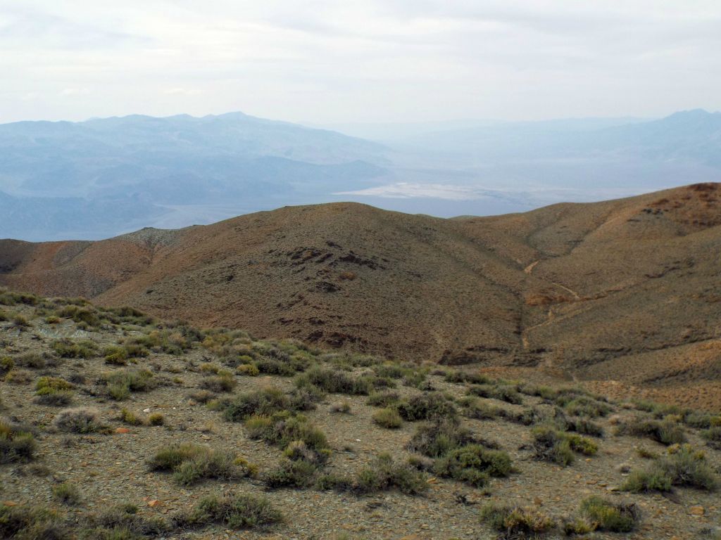
[[[442,217],[625,197],[721,177],[721,114],[337,126],[239,112],[0,125],[0,238],[94,239],[286,204]]]

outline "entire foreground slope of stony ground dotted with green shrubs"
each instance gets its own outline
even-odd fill
[[[0,347],[4,539],[721,533],[719,415],[1,289]]]

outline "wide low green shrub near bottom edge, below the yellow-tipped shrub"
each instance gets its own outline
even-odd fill
[[[234,528],[255,528],[270,526],[283,521],[280,511],[266,498],[254,495],[226,495],[218,498],[210,495],[190,513],[180,513],[173,518],[174,523],[182,528],[202,527],[211,523]]]

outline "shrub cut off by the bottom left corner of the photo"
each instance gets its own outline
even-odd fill
[[[71,531],[55,510],[39,506],[0,506],[0,538],[70,540]]]

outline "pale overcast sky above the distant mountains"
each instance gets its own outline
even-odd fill
[[[721,1],[0,0],[0,122],[721,109]]]

